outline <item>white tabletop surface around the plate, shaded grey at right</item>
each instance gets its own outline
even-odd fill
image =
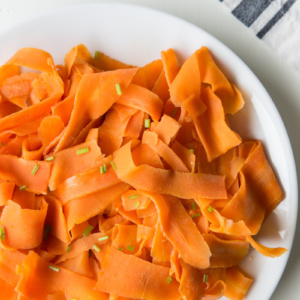
[[[93,0],[0,0],[0,31],[40,12],[80,2]],[[119,0],[118,2],[155,8],[185,19],[214,35],[244,60],[265,86],[279,110],[291,140],[297,172],[300,175],[299,73],[292,70],[249,29],[239,23],[218,0]],[[283,299],[300,299],[299,222],[287,267],[271,297],[271,300]]]

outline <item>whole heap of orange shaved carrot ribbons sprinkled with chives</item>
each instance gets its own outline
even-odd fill
[[[253,237],[283,191],[227,122],[241,92],[207,47],[177,57],[0,66],[0,298],[243,299],[249,246],[287,251]]]

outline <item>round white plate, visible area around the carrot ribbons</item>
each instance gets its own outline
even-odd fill
[[[88,3],[63,9],[19,24],[0,34],[0,64],[21,47],[38,47],[52,54],[57,64],[75,45],[83,43],[93,53],[100,50],[134,65],[160,57],[174,48],[180,59],[202,45],[208,46],[225,74],[244,94],[246,104],[231,119],[242,137],[263,141],[284,188],[285,199],[264,223],[259,241],[267,246],[292,246],[297,218],[297,179],[293,154],[283,122],[270,96],[249,68],[220,41],[176,17],[148,8],[113,3]],[[250,251],[242,266],[255,280],[247,300],[271,297],[285,268],[289,252],[266,258]]]

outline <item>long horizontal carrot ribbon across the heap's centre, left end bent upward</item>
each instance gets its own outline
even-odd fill
[[[181,198],[227,197],[224,177],[155,169],[148,165],[135,166],[131,156],[131,144],[127,143],[114,153],[114,162],[119,178],[135,188]]]

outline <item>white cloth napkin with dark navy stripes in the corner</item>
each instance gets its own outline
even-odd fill
[[[300,73],[300,0],[219,0]]]

